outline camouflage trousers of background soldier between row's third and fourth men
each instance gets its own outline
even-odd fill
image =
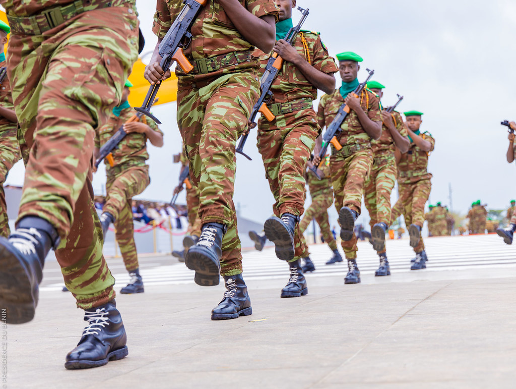
[[[301,234],[308,228],[310,222],[315,219],[324,241],[330,246],[331,251],[337,250],[337,243],[333,238],[330,229],[330,221],[328,219],[328,208],[333,205],[333,193],[322,193],[318,196],[312,197],[312,204],[306,211],[304,211],[303,219],[299,223],[299,231]],[[304,237],[303,237],[304,240]]]

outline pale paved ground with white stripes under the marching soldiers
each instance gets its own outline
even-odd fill
[[[7,387],[512,388],[516,260],[496,238],[429,239],[428,269],[419,272],[408,270],[407,241],[389,242],[396,271],[375,278],[365,270],[359,285],[343,285],[345,269],[324,267],[328,249],[313,246],[318,270],[308,275],[309,294],[296,299],[279,298],[283,263],[248,252],[253,315],[218,322],[209,314],[222,285],[154,279],[156,269],[182,274],[184,265],[145,258],[146,293],[117,298],[128,357],[83,371],[63,367],[84,322],[72,295],[57,290],[50,262],[35,320],[8,325]],[[446,245],[447,259],[439,254]],[[373,269],[365,242],[360,250],[359,266]],[[477,257],[483,262],[467,263]],[[109,262],[121,277],[120,261]],[[263,276],[269,263],[279,268]]]

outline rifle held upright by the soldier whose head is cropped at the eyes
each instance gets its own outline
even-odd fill
[[[297,26],[292,27],[288,30],[287,35],[285,36],[285,40],[293,44],[296,40],[297,35],[299,34],[299,31],[301,30],[301,27],[304,23],[304,21],[307,19],[308,14],[310,13],[310,10],[303,9],[301,7],[297,8],[299,11],[301,11],[302,17]],[[270,112],[269,108],[267,108],[267,103],[265,102],[267,100],[270,101],[272,97],[272,92],[270,91],[270,87],[272,86],[272,83],[278,76],[278,73],[280,72],[281,68],[283,67],[283,58],[281,58],[278,53],[273,53],[268,62],[267,66],[265,68],[265,72],[263,73],[262,79],[260,80],[260,90],[262,91],[260,98],[254,104],[253,110],[251,111],[251,116],[249,117],[249,120],[253,122],[256,119],[256,115],[260,112],[265,116],[265,118],[268,121],[272,121],[275,119],[276,116]],[[240,142],[238,143],[238,147],[236,148],[236,152],[239,154],[244,155],[249,161],[251,161],[251,157],[247,155],[244,150],[244,145],[246,144],[247,137],[249,136],[249,133],[241,137]]]

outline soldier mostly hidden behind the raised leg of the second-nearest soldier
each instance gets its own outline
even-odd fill
[[[181,162],[181,172],[184,169],[188,169],[188,159],[183,151],[180,154],[179,162]],[[172,255],[180,262],[185,261],[185,255],[188,249],[196,245],[201,236],[201,220],[199,219],[199,188],[195,186],[190,179],[190,175],[186,179],[188,185],[186,185],[186,208],[188,210],[188,229],[186,230],[186,236],[183,238],[183,250],[173,251]],[[179,193],[183,190],[183,182],[180,182],[178,186],[174,188],[174,194]]]

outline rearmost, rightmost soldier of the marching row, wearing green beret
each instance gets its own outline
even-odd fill
[[[425,221],[425,204],[432,187],[432,175],[427,168],[428,157],[436,141],[429,132],[421,132],[422,115],[419,111],[405,112],[410,148],[406,153],[396,151],[399,198],[391,216],[391,222],[394,222],[403,213],[408,225],[410,246],[416,253],[411,270],[425,269],[428,260],[421,229]]]

